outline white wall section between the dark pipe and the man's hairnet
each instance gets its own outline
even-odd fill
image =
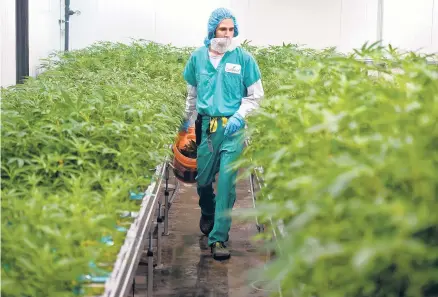
[[[70,18],[71,49],[131,38],[201,45],[209,13],[229,4],[229,0],[72,0],[71,9],[81,15]]]

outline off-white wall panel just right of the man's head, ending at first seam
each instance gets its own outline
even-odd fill
[[[248,37],[256,45],[299,43],[322,48],[340,44],[342,0],[250,1]]]

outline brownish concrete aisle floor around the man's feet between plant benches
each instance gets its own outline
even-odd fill
[[[180,183],[169,213],[168,236],[163,237],[164,267],[154,272],[154,297],[247,297],[268,296],[258,286],[253,269],[262,268],[266,255],[252,240],[255,221],[233,221],[228,247],[231,258],[212,258],[207,238],[199,230],[200,208],[195,185]],[[235,209],[251,208],[249,182],[240,181]],[[147,266],[140,265],[134,294],[146,297]],[[148,296],[150,297],[150,296]]]

